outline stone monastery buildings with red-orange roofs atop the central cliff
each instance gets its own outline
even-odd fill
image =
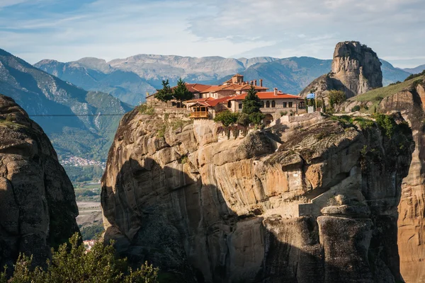
[[[259,99],[261,103],[259,108],[262,113],[261,124],[265,126],[271,125],[282,116],[305,115],[315,110],[314,107],[307,107],[307,99],[301,96],[283,93],[278,88],[270,90],[263,86],[263,79],[244,81],[244,76],[241,74],[235,74],[218,86],[185,83],[181,79],[178,86],[169,87],[168,84],[168,81],[163,81],[163,89],[147,95],[147,105],[155,110],[162,109],[163,112],[181,110],[187,112],[188,117],[193,120],[214,120],[223,112],[242,112],[243,101],[250,91],[256,94],[258,97],[256,99]],[[186,92],[190,94],[185,96],[186,99],[178,100],[171,93],[178,93],[182,84],[186,87]]]

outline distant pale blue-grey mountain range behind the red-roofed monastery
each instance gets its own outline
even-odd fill
[[[246,81],[263,79],[268,88],[300,93],[312,80],[327,74],[331,62],[312,57],[234,59],[138,54],[110,62],[97,58],[67,63],[44,59],[34,66],[81,88],[111,93],[125,103],[137,105],[145,100],[146,93],[161,88],[162,79],[169,79],[174,85],[180,77],[188,83],[216,84],[239,73]],[[403,81],[411,74],[382,59],[381,62],[384,86]]]

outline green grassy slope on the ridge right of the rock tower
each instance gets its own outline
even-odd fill
[[[349,100],[354,101],[375,101],[377,103],[380,102],[380,100],[386,98],[387,96],[392,96],[395,93],[398,93],[399,91],[403,91],[404,89],[408,89],[410,86],[414,84],[415,81],[419,81],[420,79],[424,80],[425,76],[418,76],[414,79],[411,79],[409,81],[404,81],[402,83],[397,83],[392,86],[385,86],[383,88],[375,88],[372,91],[368,91],[367,93],[363,93],[359,96],[354,96],[353,98],[350,98]]]

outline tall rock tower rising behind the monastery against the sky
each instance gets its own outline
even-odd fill
[[[312,90],[326,97],[326,91],[344,91],[350,98],[382,87],[381,62],[378,55],[360,42],[339,42],[334,51],[332,69],[310,83],[300,94],[306,96]]]

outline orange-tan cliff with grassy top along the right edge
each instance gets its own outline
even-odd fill
[[[378,91],[366,93],[368,99],[360,99],[360,96],[358,100],[348,100],[341,108],[350,111],[354,105],[373,105],[377,103],[378,96],[387,93],[387,97],[380,98],[378,111],[399,111],[412,127],[415,148],[409,175],[402,183],[398,207],[398,248],[400,271],[405,282],[425,282],[425,78],[421,76]]]

